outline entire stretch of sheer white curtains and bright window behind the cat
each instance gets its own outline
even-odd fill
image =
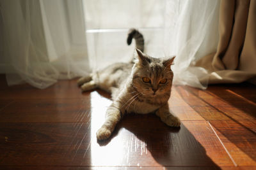
[[[198,81],[207,76],[205,69],[193,63],[216,50],[219,0],[0,3],[4,35],[4,64],[0,66],[10,85],[25,81],[42,89],[58,79],[128,61],[134,55],[134,44],[126,45],[127,31],[135,27],[145,38],[145,53],[177,55],[175,84],[207,86]]]

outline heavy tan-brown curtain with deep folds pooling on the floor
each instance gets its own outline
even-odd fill
[[[196,62],[209,71],[201,81],[256,83],[256,0],[222,0],[216,53]]]

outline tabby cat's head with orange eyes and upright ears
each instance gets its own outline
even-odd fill
[[[132,68],[132,85],[143,96],[170,95],[173,80],[171,65],[175,57],[157,59],[136,50],[138,59]]]

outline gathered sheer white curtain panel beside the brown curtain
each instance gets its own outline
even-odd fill
[[[167,1],[164,52],[177,56],[172,66],[176,85],[207,88],[207,70],[193,64],[216,50],[219,6],[211,0]]]

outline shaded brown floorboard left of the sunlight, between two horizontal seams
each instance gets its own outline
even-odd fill
[[[90,122],[90,96],[83,99],[18,99],[0,110],[0,122]]]

